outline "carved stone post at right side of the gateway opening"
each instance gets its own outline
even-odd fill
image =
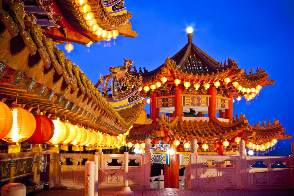
[[[198,189],[198,176],[197,176],[197,170],[198,170],[198,153],[197,153],[197,140],[192,139],[191,140],[191,156],[190,156],[190,164],[189,164],[189,172],[191,179],[190,183],[188,183],[188,186],[191,185],[191,190],[197,190]],[[188,180],[189,181],[189,180]]]

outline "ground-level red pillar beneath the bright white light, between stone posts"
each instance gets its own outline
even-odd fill
[[[180,145],[175,146],[171,144],[171,150],[173,151],[173,156],[170,156],[170,187],[179,188],[180,182],[180,166],[179,166],[179,154],[177,151],[180,149]]]

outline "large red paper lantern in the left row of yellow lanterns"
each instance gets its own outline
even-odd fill
[[[42,112],[36,113],[34,117],[36,120],[36,129],[27,141],[35,145],[48,142],[54,135],[54,124],[52,120],[44,116]]]

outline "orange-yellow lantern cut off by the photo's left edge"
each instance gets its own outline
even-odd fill
[[[13,118],[9,107],[0,101],[0,139],[4,138],[11,130]],[[53,129],[54,130],[54,129]]]

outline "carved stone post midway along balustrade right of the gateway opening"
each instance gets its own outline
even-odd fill
[[[246,153],[246,148],[245,148],[245,141],[241,140],[240,141],[240,182],[241,182],[241,189],[246,189],[247,188],[247,153]]]

